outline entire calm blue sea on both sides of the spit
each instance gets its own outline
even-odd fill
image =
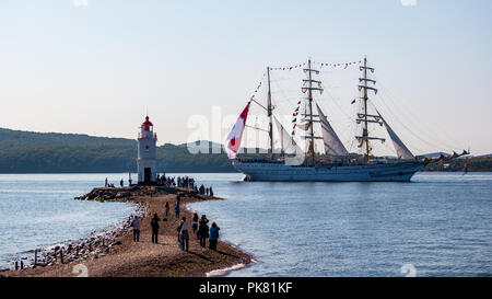
[[[230,276],[492,275],[492,173],[419,173],[411,183],[190,175],[227,199],[191,208],[258,261]],[[72,199],[106,176],[116,183],[128,174],[0,175],[1,265],[130,215],[127,204]]]

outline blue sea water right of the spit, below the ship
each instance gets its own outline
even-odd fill
[[[257,260],[229,276],[492,275],[492,173],[410,183],[197,176],[227,200],[191,207]]]

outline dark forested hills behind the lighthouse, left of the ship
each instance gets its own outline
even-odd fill
[[[79,134],[0,128],[0,173],[95,173],[137,170],[137,141]],[[224,153],[191,154],[186,147],[157,148],[160,172],[232,172]]]

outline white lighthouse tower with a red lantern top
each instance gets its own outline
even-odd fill
[[[152,123],[149,116],[145,116],[145,122],[142,123],[138,142],[139,151],[137,158],[137,169],[139,172],[139,184],[155,184],[157,176],[157,159],[156,146],[157,135],[153,133]]]

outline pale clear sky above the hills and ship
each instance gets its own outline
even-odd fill
[[[161,145],[220,142],[267,66],[366,56],[374,105],[412,151],[490,153],[491,13],[489,0],[2,0],[0,127],[136,138],[149,114]],[[272,71],[279,112],[303,76]],[[342,141],[359,76],[320,73]]]

